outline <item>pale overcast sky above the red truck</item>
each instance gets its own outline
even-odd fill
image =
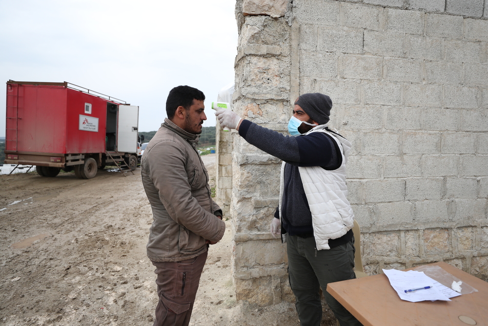
[[[197,87],[205,106],[234,82],[233,0],[0,0],[0,137],[5,83],[69,82],[139,106],[158,130],[168,92]],[[205,109],[203,126],[215,126]]]

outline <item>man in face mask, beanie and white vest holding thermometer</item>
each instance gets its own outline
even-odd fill
[[[288,273],[301,326],[319,326],[319,289],[341,326],[361,325],[325,289],[354,279],[354,213],[347,200],[346,162],[351,143],[327,128],[332,101],[320,93],[300,95],[288,123],[291,136],[241,119],[230,110],[215,113],[222,127],[237,129],[249,143],[283,160],[280,205],[273,236],[286,242]]]

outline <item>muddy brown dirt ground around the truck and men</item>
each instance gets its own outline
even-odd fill
[[[215,175],[215,154],[202,157]],[[0,325],[152,325],[152,214],[140,169],[134,174],[0,175]],[[210,247],[190,325],[298,326],[292,304],[236,302],[226,223],[224,239]]]

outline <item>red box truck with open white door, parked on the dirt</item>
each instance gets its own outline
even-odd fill
[[[5,163],[80,178],[121,164],[134,170],[139,107],[67,82],[7,82]],[[142,141],[141,141],[142,142]]]

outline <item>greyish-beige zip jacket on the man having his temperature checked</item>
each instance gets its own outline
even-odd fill
[[[142,185],[154,218],[146,246],[152,261],[191,259],[207,250],[205,240],[224,236],[197,144],[198,135],[165,119],[142,155]]]

